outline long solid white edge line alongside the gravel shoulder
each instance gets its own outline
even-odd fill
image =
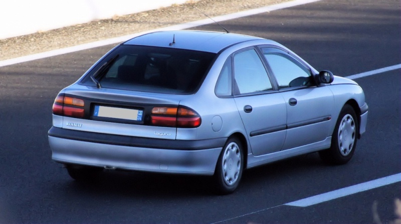
[[[271,11],[275,11],[275,10],[290,8],[290,7],[304,5],[304,4],[318,2],[318,1],[321,1],[321,0],[294,0],[291,2],[276,4],[276,5],[262,7],[262,8],[258,8],[258,9],[247,10],[247,11],[228,14],[228,15],[224,15],[224,16],[218,16],[218,17],[214,17],[213,20],[215,20],[217,22],[225,21],[225,20],[232,20],[232,19],[237,19],[237,18],[241,18],[241,17],[252,16],[252,15],[256,15],[256,14],[260,14],[260,13],[271,12]],[[86,50],[86,49],[95,48],[95,47],[106,46],[106,45],[110,45],[110,44],[117,44],[117,43],[121,43],[126,40],[129,40],[131,38],[143,35],[145,33],[162,31],[162,30],[183,30],[183,29],[188,29],[188,28],[192,28],[192,27],[196,27],[196,26],[212,24],[212,23],[214,23],[214,22],[211,19],[198,20],[198,21],[194,21],[194,22],[178,24],[175,26],[169,26],[169,27],[164,27],[164,28],[155,29],[155,30],[148,30],[145,32],[135,33],[135,34],[126,35],[126,36],[122,36],[122,37],[116,37],[116,38],[111,38],[111,39],[107,39],[107,40],[96,41],[96,42],[92,42],[92,43],[88,43],[88,44],[81,44],[81,45],[77,45],[77,46],[73,46],[73,47],[67,47],[67,48],[62,48],[62,49],[58,49],[58,50],[52,50],[52,51],[47,51],[47,52],[43,52],[43,53],[37,53],[37,54],[22,56],[22,57],[18,57],[18,58],[7,59],[7,60],[0,61],[0,67],[18,64],[18,63],[22,63],[22,62],[33,61],[33,60],[42,59],[42,58],[53,57],[53,56],[57,56],[57,55],[72,53],[72,52]]]

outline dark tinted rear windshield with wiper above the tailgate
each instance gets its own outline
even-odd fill
[[[215,56],[201,51],[121,45],[81,84],[96,86],[98,82],[102,88],[190,94],[203,81]]]

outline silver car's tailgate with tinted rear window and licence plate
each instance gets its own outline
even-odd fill
[[[120,45],[67,89],[71,97],[83,100],[85,115],[79,120],[65,117],[63,128],[175,139],[177,128],[200,124],[194,111],[178,108],[179,102],[196,91],[215,57],[210,52]],[[190,121],[182,122],[188,117]]]

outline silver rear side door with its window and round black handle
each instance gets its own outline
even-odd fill
[[[280,151],[286,136],[284,98],[275,91],[256,49],[233,56],[234,99],[244,123],[252,153]]]

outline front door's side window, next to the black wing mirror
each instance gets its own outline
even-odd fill
[[[289,54],[276,48],[262,48],[262,51],[280,88],[311,85],[309,69]]]

